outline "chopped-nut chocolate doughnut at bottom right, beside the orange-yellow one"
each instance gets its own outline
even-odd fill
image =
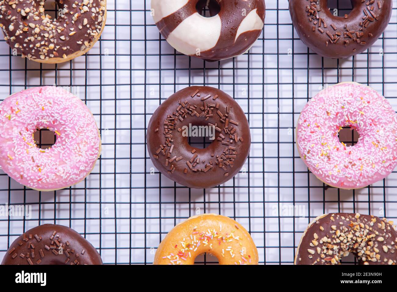
[[[360,265],[395,265],[393,222],[373,215],[333,213],[317,217],[299,242],[295,265],[340,265],[352,253]]]

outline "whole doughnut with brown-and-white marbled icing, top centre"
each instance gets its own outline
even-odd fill
[[[264,0],[152,0],[151,6],[158,30],[173,48],[208,61],[247,52],[265,19]],[[211,17],[198,12],[206,6]]]

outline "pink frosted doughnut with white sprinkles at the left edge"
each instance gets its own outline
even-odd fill
[[[36,146],[33,133],[56,134],[49,149]],[[101,141],[87,106],[61,87],[23,90],[0,104],[0,166],[11,178],[34,190],[67,188],[93,170]]]

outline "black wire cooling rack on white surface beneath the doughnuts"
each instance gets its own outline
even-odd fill
[[[339,2],[332,7],[339,8]],[[393,4],[397,7],[396,0]],[[176,223],[198,213],[218,213],[251,232],[261,264],[292,264],[304,229],[318,215],[342,211],[395,219],[396,172],[361,190],[327,188],[301,161],[294,131],[304,104],[327,84],[370,85],[397,108],[396,8],[384,35],[368,52],[331,60],[299,40],[286,0],[267,0],[265,33],[249,53],[209,63],[170,47],[153,23],[149,0],[108,0],[107,6],[98,43],[64,64],[13,56],[0,41],[0,99],[33,86],[69,86],[93,112],[103,147],[93,172],[66,190],[33,191],[0,172],[0,205],[32,208],[31,218],[0,216],[0,258],[25,230],[56,223],[80,232],[106,264],[150,264]],[[251,153],[245,166],[212,189],[189,189],[168,180],[146,151],[151,114],[189,85],[224,90],[250,123]],[[285,213],[291,206],[301,212]],[[204,255],[196,262],[216,263],[216,258]]]

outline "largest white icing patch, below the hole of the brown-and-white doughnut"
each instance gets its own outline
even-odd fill
[[[170,33],[167,41],[179,52],[185,55],[195,55],[198,50],[204,52],[218,43],[221,27],[219,15],[204,17],[195,13],[183,20]]]

